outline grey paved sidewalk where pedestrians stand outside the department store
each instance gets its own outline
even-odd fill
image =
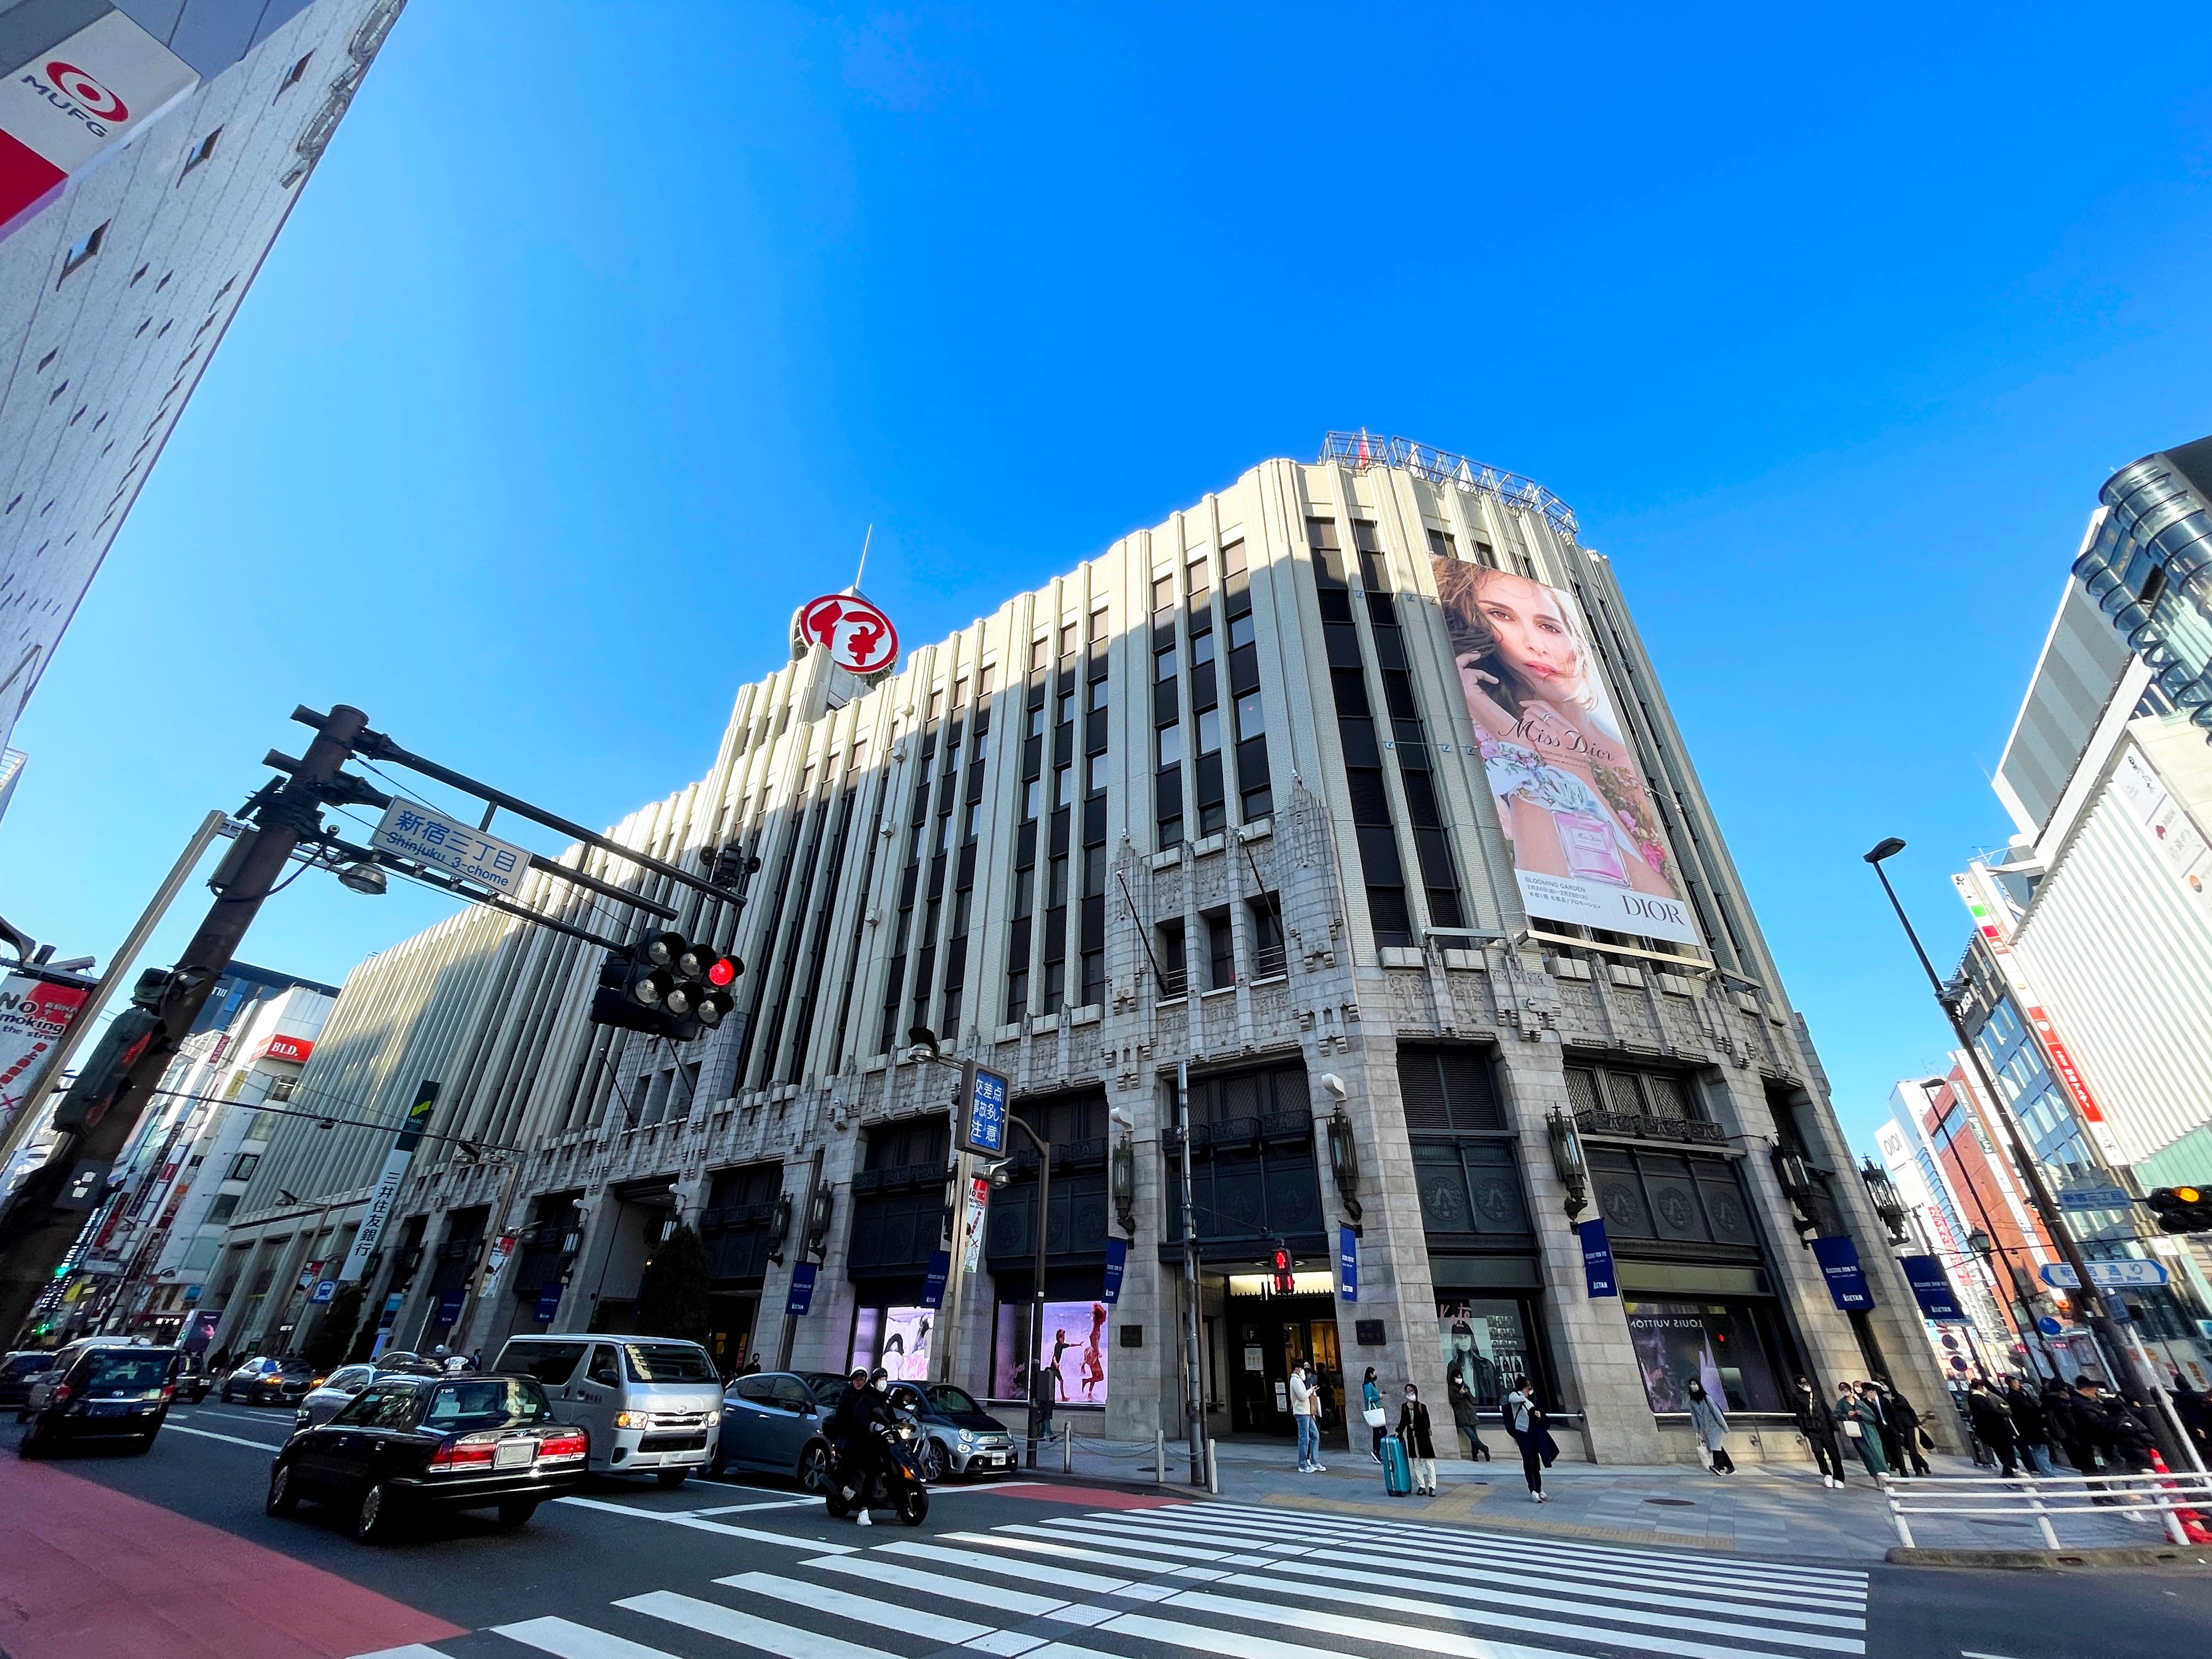
[[[1495,1462],[1438,1460],[1436,1498],[1389,1498],[1383,1469],[1365,1447],[1325,1449],[1325,1473],[1301,1475],[1296,1451],[1283,1444],[1219,1444],[1214,1467],[1221,1495],[1241,1504],[1281,1504],[1420,1524],[1467,1524],[1588,1537],[1617,1544],[1739,1551],[1825,1562],[1880,1562],[1898,1544],[1889,1502],[1856,1464],[1849,1484],[1820,1484],[1812,1464],[1741,1464],[1714,1475],[1697,1464],[1586,1464],[1555,1462],[1544,1473],[1548,1502],[1528,1500],[1513,1444]],[[1040,1449],[1040,1473],[1060,1471],[1062,1447]],[[1938,1475],[1975,1475],[1966,1458],[1933,1458]],[[1152,1449],[1077,1436],[1068,1473],[1106,1480],[1150,1480]],[[1166,1491],[1190,1493],[1190,1453],[1168,1442]],[[2022,1517],[1913,1517],[1922,1546],[1975,1551],[2042,1548],[2035,1522]],[[2075,1515],[2059,1524],[2068,1548],[2154,1546],[2163,1533],[2117,1515]]]

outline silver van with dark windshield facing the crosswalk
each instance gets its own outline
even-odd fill
[[[535,1376],[562,1422],[591,1431],[595,1475],[681,1486],[714,1460],[721,1374],[697,1343],[666,1336],[509,1336],[493,1371]]]

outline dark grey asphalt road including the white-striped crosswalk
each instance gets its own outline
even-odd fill
[[[661,1491],[608,1480],[540,1509],[518,1533],[462,1515],[367,1548],[312,1506],[292,1520],[261,1513],[268,1449],[288,1418],[179,1409],[144,1458],[93,1453],[40,1467],[212,1528],[192,1528],[195,1537],[321,1568],[460,1630],[389,1648],[405,1659],[922,1659],[953,1648],[1033,1659],[2179,1659],[2212,1650],[2212,1571],[1869,1573],[1234,1502],[1161,1504],[1150,1493],[1051,1482],[936,1489],[920,1528],[878,1517],[863,1531],[774,1484],[695,1480]],[[226,1617],[228,1635],[246,1637],[237,1621],[254,1617],[250,1593]],[[288,1652],[281,1641],[226,1646]]]

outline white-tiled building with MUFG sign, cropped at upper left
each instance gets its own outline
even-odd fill
[[[0,748],[403,4],[0,4]]]

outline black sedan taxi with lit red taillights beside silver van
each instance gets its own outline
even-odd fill
[[[535,1376],[380,1376],[283,1442],[265,1509],[332,1504],[363,1544],[427,1509],[498,1509],[502,1526],[520,1526],[584,1484],[588,1453],[591,1438],[553,1420]]]

